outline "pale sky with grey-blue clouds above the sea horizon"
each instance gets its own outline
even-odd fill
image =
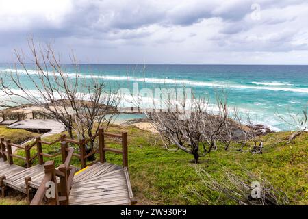
[[[0,62],[29,36],[65,63],[308,64],[308,1],[0,0]]]

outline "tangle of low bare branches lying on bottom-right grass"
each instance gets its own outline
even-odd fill
[[[242,171],[241,174],[238,174],[222,166],[221,177],[212,177],[206,170],[196,168],[205,189],[220,194],[220,198],[215,203],[203,195],[204,191],[201,194],[193,186],[189,186],[188,191],[197,196],[200,203],[207,205],[223,205],[225,204],[224,197],[239,203],[239,205],[289,205],[285,192],[275,188],[266,177],[262,176],[261,171],[259,171],[259,175],[256,175],[242,166],[240,168]]]

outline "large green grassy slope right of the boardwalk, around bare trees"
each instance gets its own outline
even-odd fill
[[[129,136],[129,173],[134,196],[141,205],[199,205],[200,198],[190,192],[193,186],[207,203],[237,204],[222,194],[208,192],[200,177],[196,174],[196,167],[207,170],[212,176],[222,174],[222,165],[240,174],[243,166],[252,172],[259,172],[275,186],[283,190],[290,199],[291,205],[308,205],[308,133],[304,133],[292,144],[277,144],[276,139],[286,138],[287,133],[272,133],[264,137],[264,153],[253,155],[218,150],[211,153],[211,157],[203,157],[200,164],[192,164],[192,155],[183,151],[167,151],[158,136],[149,131],[142,131],[137,127],[111,127],[109,132],[120,133],[127,131]],[[44,138],[53,141],[59,135]],[[106,139],[107,146],[120,148],[120,142]],[[55,153],[60,144],[44,146],[46,153]],[[32,152],[34,153],[34,151]],[[18,151],[23,155],[22,151]],[[106,154],[107,162],[121,164],[121,155],[111,152]],[[17,162],[17,160],[16,160]],[[60,164],[60,157],[55,163]],[[74,158],[73,164],[79,164]],[[18,161],[18,164],[22,164]],[[240,166],[238,165],[240,164]],[[0,199],[1,203],[1,199]]]

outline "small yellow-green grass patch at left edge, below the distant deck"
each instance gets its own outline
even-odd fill
[[[5,126],[0,125],[0,138],[11,140],[14,144],[19,144],[35,136],[37,136],[37,134],[30,131],[23,129],[8,129]]]

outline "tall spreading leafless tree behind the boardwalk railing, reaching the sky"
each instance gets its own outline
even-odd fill
[[[1,78],[1,90],[8,96],[7,102],[38,107],[64,124],[71,138],[74,130],[78,138],[86,138],[97,133],[101,124],[108,127],[120,102],[117,90],[108,87],[105,79],[83,77],[73,55],[70,55],[73,73],[68,73],[51,44],[36,45],[33,39],[28,44],[36,69],[25,63],[23,51],[15,51],[18,65]]]

